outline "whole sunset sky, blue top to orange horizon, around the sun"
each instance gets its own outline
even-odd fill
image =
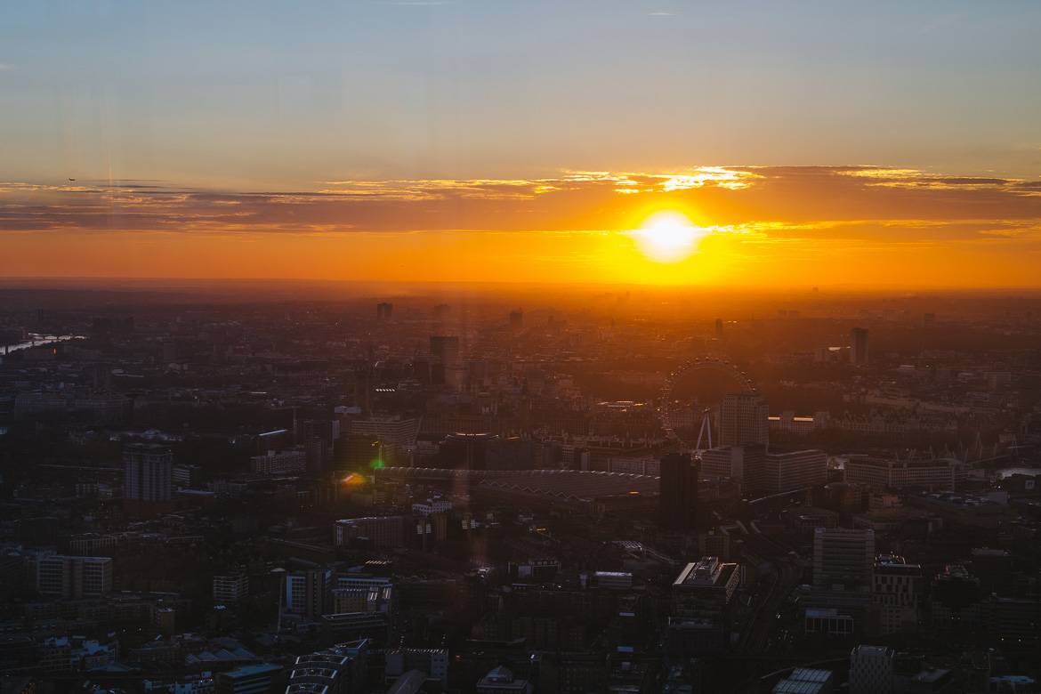
[[[1041,286],[1039,27],[1012,1],[19,3],[0,276]],[[641,245],[662,211],[679,257]]]

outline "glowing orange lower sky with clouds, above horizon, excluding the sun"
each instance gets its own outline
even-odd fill
[[[632,231],[677,210],[678,262]],[[5,277],[1041,284],[1041,183],[863,166],[331,181],[307,191],[0,184]]]

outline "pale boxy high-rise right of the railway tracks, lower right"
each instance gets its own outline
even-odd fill
[[[817,528],[813,533],[813,585],[866,592],[874,565],[874,531]]]

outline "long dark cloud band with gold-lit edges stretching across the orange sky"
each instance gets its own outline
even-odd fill
[[[752,239],[987,241],[1035,235],[1041,182],[877,166],[572,172],[532,180],[331,181],[233,191],[163,181],[0,183],[0,230],[183,233],[616,230],[676,207]]]

